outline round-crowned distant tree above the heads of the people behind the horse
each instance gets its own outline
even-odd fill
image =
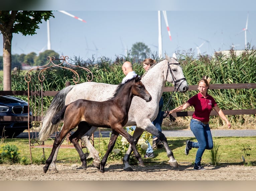
[[[150,54],[150,48],[142,42],[138,42],[132,45],[132,56],[136,61],[144,60]]]

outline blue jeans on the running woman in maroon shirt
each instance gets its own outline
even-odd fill
[[[195,160],[195,167],[201,165],[201,159],[205,149],[211,150],[213,148],[213,137],[209,124],[204,124],[195,119],[190,121],[190,129],[195,135],[198,142],[190,142],[190,147],[198,148]]]

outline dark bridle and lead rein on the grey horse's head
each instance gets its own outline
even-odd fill
[[[164,112],[164,118],[165,118],[165,117],[168,115],[168,113],[169,113],[169,110],[168,110],[168,109],[169,109],[169,105],[170,105],[170,103],[171,103],[172,95],[178,91],[180,85],[186,80],[186,78],[181,78],[181,79],[176,80],[175,76],[173,75],[173,73],[172,73],[172,71],[171,71],[171,67],[170,67],[171,64],[180,65],[180,63],[169,63],[169,62],[168,62],[168,69],[167,69],[167,72],[166,72],[166,81],[167,81],[167,77],[168,77],[168,74],[169,74],[169,71],[170,71],[172,80],[173,80],[173,82],[174,82],[174,89],[173,89],[173,92],[172,92],[171,96],[169,97],[169,100],[168,100],[166,106],[165,106],[165,109],[167,109],[167,110],[165,110],[165,112]],[[179,85],[178,85],[178,82],[181,81],[181,80],[183,80],[183,81],[182,81],[181,83],[179,83]],[[167,112],[166,112],[166,111],[167,111]],[[174,118],[171,114],[169,114],[169,116],[170,116],[170,121],[171,121],[171,120],[175,121],[175,118]]]

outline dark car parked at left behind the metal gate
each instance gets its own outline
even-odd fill
[[[20,98],[0,95],[0,116],[27,116],[28,103]],[[30,112],[31,115],[31,112]],[[32,125],[29,124],[29,128]],[[25,129],[28,129],[27,121],[5,121],[0,120],[0,136],[12,138],[18,136]]]

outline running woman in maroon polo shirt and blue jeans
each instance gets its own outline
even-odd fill
[[[195,108],[195,112],[193,113],[190,121],[190,129],[198,142],[187,140],[185,147],[186,155],[188,155],[191,148],[198,148],[194,170],[206,170],[203,166],[201,166],[201,159],[205,149],[211,150],[213,148],[213,138],[208,123],[212,109],[214,109],[217,114],[226,121],[228,128],[231,127],[231,123],[217,105],[214,98],[207,93],[210,81],[211,78],[208,78],[207,76],[203,77],[203,79],[198,83],[199,93],[188,99],[183,105],[169,111],[169,114],[171,114],[173,112],[182,111],[189,106],[194,106]]]

